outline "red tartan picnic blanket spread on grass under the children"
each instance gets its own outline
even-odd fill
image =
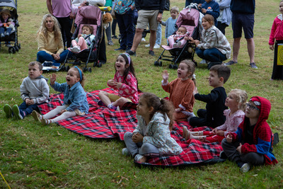
[[[103,91],[115,93],[111,88],[105,88]],[[75,116],[67,120],[57,122],[58,125],[91,138],[119,138],[124,139],[125,132],[132,132],[137,125],[137,111],[132,109],[133,104],[127,104],[120,111],[110,110],[107,107],[99,106],[97,102],[99,91],[87,93],[88,105],[90,107],[87,115]],[[39,106],[40,112],[44,115],[50,110],[63,104],[63,93],[51,96],[51,103],[45,103]],[[132,108],[131,108],[132,107]],[[178,156],[161,156],[148,159],[143,165],[150,166],[180,166],[200,163],[216,163],[224,161],[219,159],[219,153],[222,150],[219,142],[204,143],[195,139],[185,141],[182,137],[183,125],[191,129],[188,122],[175,123],[171,137],[173,137],[183,153]],[[192,129],[194,131],[211,130],[209,127],[199,127]],[[141,164],[139,162],[135,162]]]

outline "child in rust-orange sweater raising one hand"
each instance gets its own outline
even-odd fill
[[[175,108],[174,120],[176,122],[187,121],[194,115],[192,108],[194,107],[195,98],[193,91],[195,84],[192,81],[192,75],[195,72],[195,63],[189,59],[180,62],[178,67],[178,78],[168,83],[169,74],[165,70],[162,74],[162,88],[170,93],[169,101]]]

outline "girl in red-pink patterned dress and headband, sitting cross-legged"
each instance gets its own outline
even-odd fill
[[[107,84],[117,90],[118,95],[100,91],[98,105],[106,105],[112,110],[120,110],[119,106],[122,107],[127,102],[137,103],[139,100],[137,78],[129,54],[122,53],[117,57],[115,71],[114,79],[108,80]]]

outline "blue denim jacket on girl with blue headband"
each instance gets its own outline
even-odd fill
[[[88,113],[88,101],[86,100],[86,92],[83,90],[80,82],[77,82],[69,88],[67,83],[59,84],[57,82],[54,85],[50,86],[54,88],[55,91],[63,92],[64,93],[64,105],[69,105],[66,110],[74,111],[79,109],[81,113]]]

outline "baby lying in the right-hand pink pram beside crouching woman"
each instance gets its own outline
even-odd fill
[[[185,43],[188,40],[187,29],[183,26],[178,28],[175,35],[170,35],[168,37],[169,47],[171,48],[181,48],[184,47]]]

